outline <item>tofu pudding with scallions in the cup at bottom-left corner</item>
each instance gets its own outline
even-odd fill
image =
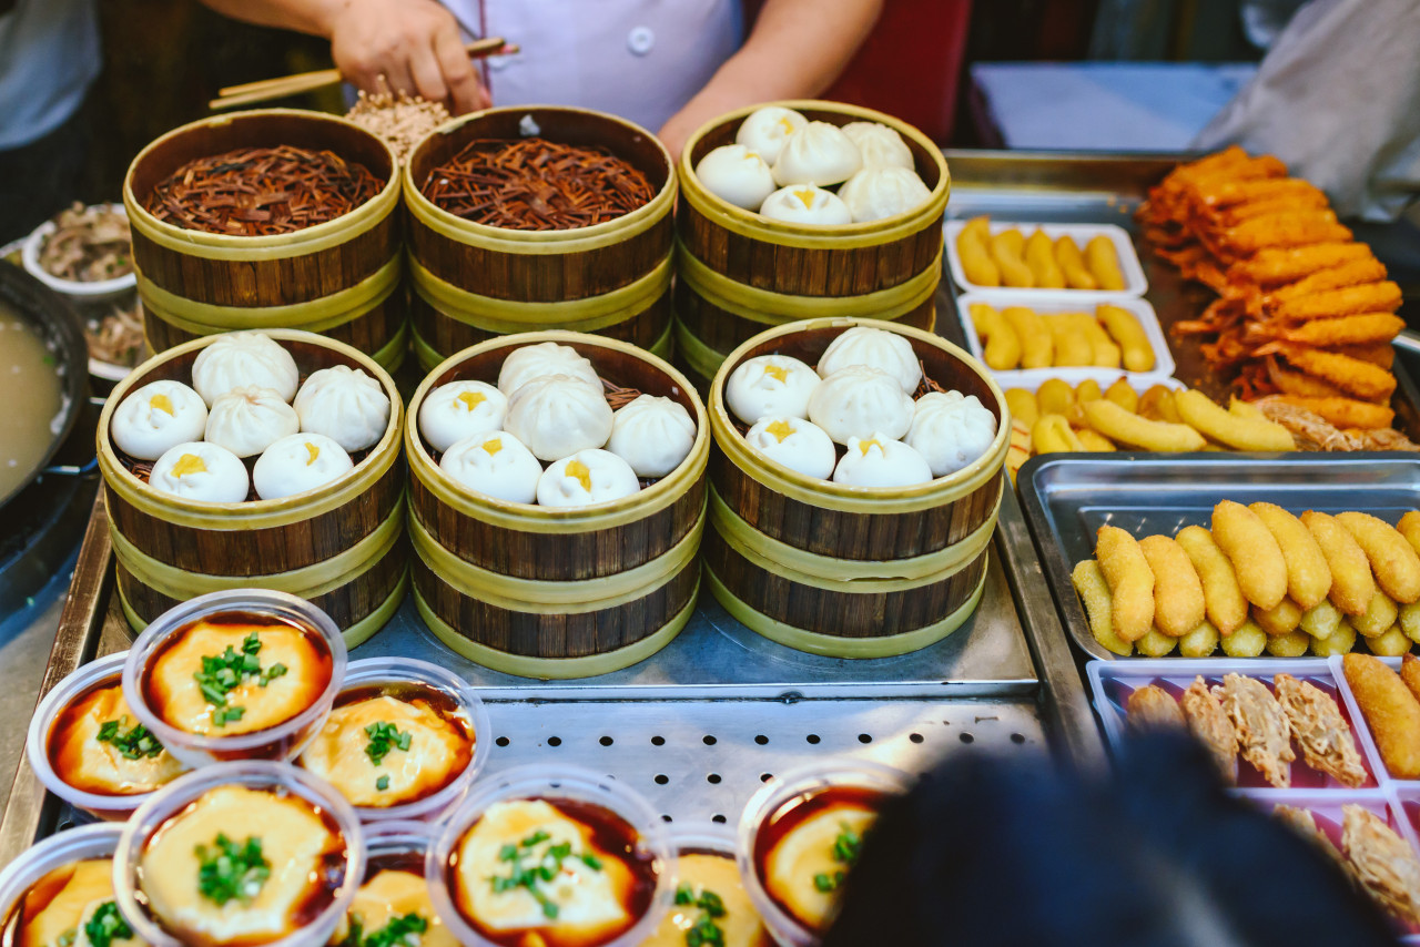
[[[14,947],[139,947],[114,900],[114,862],[94,858],[57,867],[36,882],[4,924]]]

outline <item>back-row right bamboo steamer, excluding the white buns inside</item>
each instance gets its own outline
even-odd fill
[[[811,121],[880,122],[906,142],[930,189],[926,203],[870,223],[821,227],[768,220],[714,196],[694,173],[734,142],[760,105],[714,119],[686,142],[676,212],[676,359],[706,390],[726,354],[767,327],[873,318],[932,329],[941,281],[941,217],[951,177],[941,150],[912,125],[839,102],[774,102]]]

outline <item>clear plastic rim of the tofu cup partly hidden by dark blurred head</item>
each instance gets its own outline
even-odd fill
[[[784,947],[816,947],[822,931],[815,931],[780,907],[760,877],[760,866],[754,856],[760,828],[794,799],[808,799],[828,789],[866,789],[885,797],[902,795],[912,788],[913,779],[906,772],[879,762],[865,760],[836,760],[792,770],[782,777],[764,784],[750,797],[740,816],[736,858],[740,862],[740,876],[744,890],[764,919],[764,926],[775,941]]]

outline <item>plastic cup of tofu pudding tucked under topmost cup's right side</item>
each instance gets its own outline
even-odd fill
[[[339,789],[362,822],[437,819],[469,794],[491,740],[483,701],[457,673],[371,657],[345,669],[331,714],[295,762]]]

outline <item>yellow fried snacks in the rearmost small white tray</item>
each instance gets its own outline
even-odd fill
[[[976,285],[1108,292],[1125,288],[1119,254],[1103,234],[1081,248],[1074,237],[1051,240],[1039,229],[1030,237],[1017,227],[993,234],[990,217],[973,217],[957,234],[957,258],[967,283]]]

